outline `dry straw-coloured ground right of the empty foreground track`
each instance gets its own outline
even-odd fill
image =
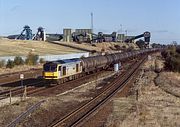
[[[134,84],[134,94],[127,98],[114,98],[112,113],[104,124],[109,127],[179,127],[180,98],[178,73],[154,72],[153,56],[145,63]],[[163,63],[163,61],[160,61]],[[161,64],[159,63],[159,64]],[[169,84],[169,82],[171,82]],[[167,92],[168,91],[168,92]]]

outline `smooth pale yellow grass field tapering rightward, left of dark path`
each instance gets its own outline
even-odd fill
[[[30,51],[38,55],[59,55],[82,52],[60,45],[41,41],[0,39],[0,56],[26,56]]]

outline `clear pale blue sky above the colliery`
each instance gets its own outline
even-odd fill
[[[151,32],[151,42],[180,44],[180,0],[0,0],[0,36],[20,34],[24,25],[33,33],[63,28],[139,35]]]

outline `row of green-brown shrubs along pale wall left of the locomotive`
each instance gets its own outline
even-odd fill
[[[6,67],[6,68],[13,68],[14,66],[20,66],[20,65],[36,65],[37,63],[44,63],[44,59],[40,58],[39,56],[33,53],[29,53],[24,60],[20,56],[16,56],[14,60],[8,59],[7,63],[4,60],[0,61],[0,68]]]

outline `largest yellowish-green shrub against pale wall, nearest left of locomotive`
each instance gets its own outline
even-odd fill
[[[25,62],[26,62],[27,65],[36,65],[38,59],[39,59],[38,55],[29,53],[26,60],[25,60]]]

